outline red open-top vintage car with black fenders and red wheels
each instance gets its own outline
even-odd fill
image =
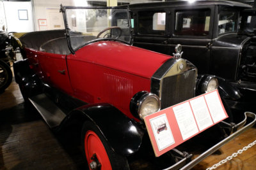
[[[61,11],[65,30],[20,37],[24,59],[14,64],[15,80],[52,129],[76,122],[90,169],[129,169],[127,157],[149,143],[143,117],[218,88],[214,76],[198,76],[188,60],[131,46],[127,9]],[[191,159],[170,152],[173,161],[157,168]]]

